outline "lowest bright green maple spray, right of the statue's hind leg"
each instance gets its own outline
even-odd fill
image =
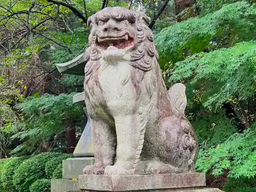
[[[243,133],[234,133],[226,141],[200,150],[196,163],[199,172],[222,175],[230,170],[228,177],[254,177],[256,174],[256,123]]]

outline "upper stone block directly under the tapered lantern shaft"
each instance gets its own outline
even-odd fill
[[[94,157],[76,157],[62,161],[62,178],[63,179],[78,179],[82,175],[82,169],[86,165],[93,165]]]

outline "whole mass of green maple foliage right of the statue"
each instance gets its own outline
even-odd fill
[[[228,172],[224,191],[251,192],[255,186],[248,178],[256,174],[256,7],[211,0],[199,0],[195,7],[204,7],[200,16],[155,33],[159,64],[168,83],[186,84],[186,115],[200,144],[197,171]],[[220,110],[225,102],[242,122],[243,133]]]

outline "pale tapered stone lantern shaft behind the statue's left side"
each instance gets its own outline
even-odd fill
[[[83,111],[88,117],[86,108],[83,108]],[[74,157],[94,157],[94,146],[90,118],[88,118],[87,120],[86,127],[84,127],[84,130],[76,145],[73,155]]]

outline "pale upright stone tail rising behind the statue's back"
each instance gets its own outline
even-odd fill
[[[182,83],[176,83],[168,91],[170,101],[174,104],[175,108],[182,114],[185,113],[187,105],[186,87]]]

